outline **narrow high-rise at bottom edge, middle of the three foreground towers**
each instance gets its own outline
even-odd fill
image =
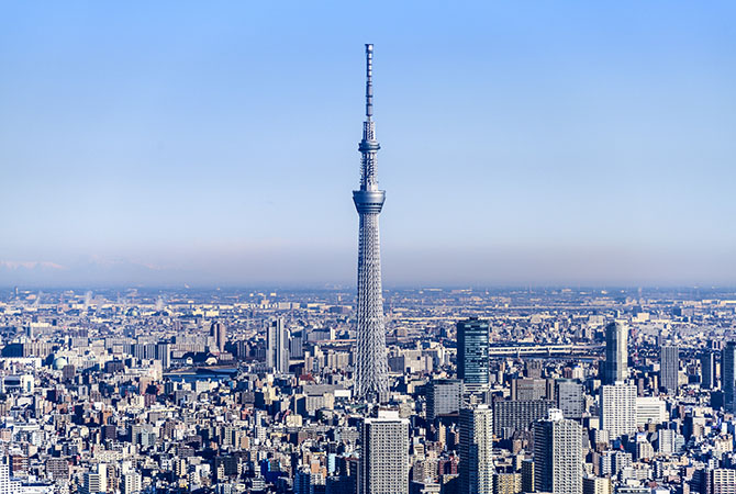
[[[488,405],[460,411],[460,492],[493,493],[493,412]]]

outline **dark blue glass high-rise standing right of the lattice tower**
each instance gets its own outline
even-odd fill
[[[488,323],[471,317],[457,323],[457,377],[470,390],[489,384]]]

